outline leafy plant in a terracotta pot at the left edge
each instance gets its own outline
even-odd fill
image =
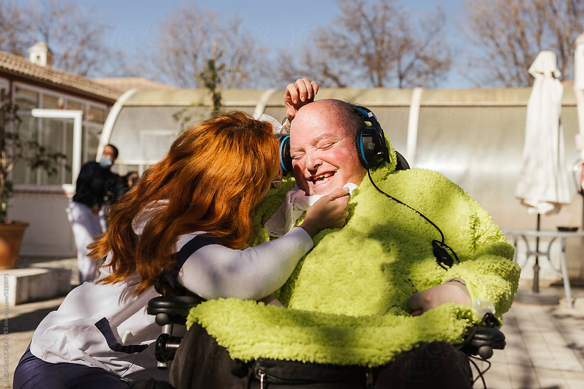
[[[13,195],[10,172],[15,163],[22,160],[32,169],[40,167],[52,175],[57,173],[58,162],[65,155],[48,151],[34,139],[22,139],[18,106],[12,103],[10,94],[4,89],[0,92],[0,269],[13,269],[29,223],[7,217],[8,199]]]

